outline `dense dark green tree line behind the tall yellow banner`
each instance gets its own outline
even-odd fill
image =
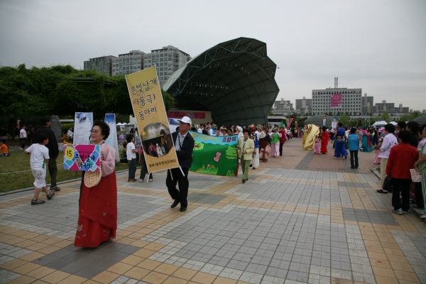
[[[174,100],[162,92],[167,111]],[[109,77],[70,65],[0,67],[1,123],[52,115],[74,117],[75,111],[93,112],[95,119],[104,119],[107,113],[133,114],[125,76]]]

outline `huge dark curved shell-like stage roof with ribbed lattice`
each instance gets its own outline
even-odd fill
[[[212,111],[218,124],[262,124],[280,89],[266,43],[236,38],[192,58],[163,89],[178,109]]]

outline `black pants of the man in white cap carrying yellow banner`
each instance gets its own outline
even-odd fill
[[[190,187],[190,182],[188,181],[188,170],[189,168],[182,168],[182,171],[185,174],[184,177],[180,172],[180,168],[170,169],[167,171],[167,178],[165,179],[165,185],[167,186],[170,196],[174,200],[180,201],[181,208],[186,208],[188,206],[187,196],[188,187]],[[172,175],[170,175],[170,172]],[[176,188],[176,184],[179,185],[179,190]]]

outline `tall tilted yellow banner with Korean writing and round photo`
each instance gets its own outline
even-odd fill
[[[148,171],[179,168],[155,67],[126,75],[126,83]]]

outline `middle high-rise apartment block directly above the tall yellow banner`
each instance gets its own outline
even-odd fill
[[[119,58],[112,60],[112,75],[131,74],[143,70],[143,55],[145,53],[141,50],[120,54]]]

